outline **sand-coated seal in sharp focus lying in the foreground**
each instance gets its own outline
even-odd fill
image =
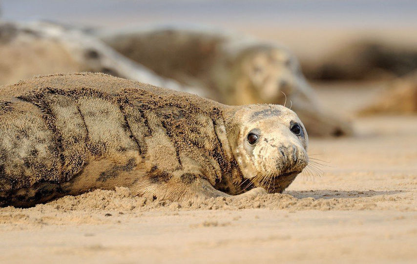
[[[1,206],[121,186],[171,201],[282,192],[309,160],[304,125],[281,105],[91,73],[24,80],[0,99]]]

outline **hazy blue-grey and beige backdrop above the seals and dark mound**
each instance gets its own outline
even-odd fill
[[[362,38],[416,47],[414,0],[1,0],[6,20],[120,29],[200,24],[283,43],[302,61]],[[307,63],[307,62],[306,62]]]

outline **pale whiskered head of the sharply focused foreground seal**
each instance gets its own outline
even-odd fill
[[[281,105],[231,108],[225,118],[226,129],[242,182],[271,193],[282,192],[309,162],[309,139],[303,123]]]

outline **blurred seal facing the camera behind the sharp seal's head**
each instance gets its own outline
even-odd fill
[[[175,26],[106,33],[101,38],[158,75],[203,87],[210,99],[228,105],[287,102],[311,135],[353,133],[349,121],[321,107],[297,58],[283,46]]]

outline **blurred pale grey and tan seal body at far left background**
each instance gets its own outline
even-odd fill
[[[88,29],[49,21],[0,23],[0,84],[34,75],[101,72],[172,90],[198,88],[160,77],[114,51]]]

